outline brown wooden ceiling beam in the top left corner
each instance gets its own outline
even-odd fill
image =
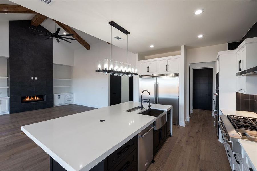
[[[0,13],[36,14],[35,11],[21,5],[0,4]]]

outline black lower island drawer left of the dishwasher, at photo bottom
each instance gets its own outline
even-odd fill
[[[111,171],[131,171],[137,166],[137,149],[134,149],[123,161]],[[109,169],[108,169],[109,170]]]

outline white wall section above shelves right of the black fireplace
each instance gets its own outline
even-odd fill
[[[53,63],[73,66],[74,50],[53,39]]]

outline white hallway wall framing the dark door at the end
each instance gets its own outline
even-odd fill
[[[201,62],[190,64],[190,113],[193,113],[193,69],[200,69],[200,68],[213,68],[212,70],[212,92],[215,92],[215,81],[216,81],[216,74],[215,74],[215,62]],[[212,99],[216,101],[216,97],[212,94]],[[214,109],[214,103],[212,103],[212,109]]]

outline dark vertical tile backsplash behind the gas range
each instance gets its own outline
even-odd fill
[[[257,113],[257,95],[236,92],[236,110]]]

